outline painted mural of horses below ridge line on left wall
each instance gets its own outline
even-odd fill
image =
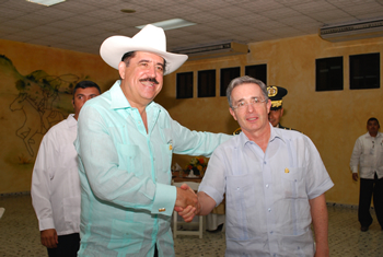
[[[48,74],[34,70],[22,74],[5,55],[0,55],[0,97],[3,139],[8,153],[3,161],[18,170],[32,171],[38,147],[49,128],[73,113],[72,90],[88,75]],[[11,89],[10,89],[11,87]],[[5,90],[4,90],[5,89]],[[4,108],[8,103],[8,108]]]

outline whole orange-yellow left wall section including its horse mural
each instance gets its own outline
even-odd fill
[[[31,190],[42,139],[73,113],[74,85],[105,92],[118,78],[100,55],[0,38],[0,196]]]

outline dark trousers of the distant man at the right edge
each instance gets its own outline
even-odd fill
[[[379,224],[383,229],[383,178],[374,179],[360,178],[358,219],[362,226],[370,226],[372,217],[370,214],[371,197]]]

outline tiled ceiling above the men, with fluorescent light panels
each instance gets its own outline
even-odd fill
[[[109,36],[131,37],[135,26],[174,17],[197,25],[166,31],[169,50],[316,34],[323,25],[383,17],[383,0],[67,0],[49,8],[0,0],[0,38],[97,55]]]

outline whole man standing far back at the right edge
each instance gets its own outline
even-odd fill
[[[383,135],[379,132],[379,120],[370,118],[367,121],[369,132],[357,139],[355,143],[350,167],[352,179],[360,175],[358,219],[360,230],[365,232],[372,223],[370,214],[371,197],[375,208],[379,224],[383,230]]]

